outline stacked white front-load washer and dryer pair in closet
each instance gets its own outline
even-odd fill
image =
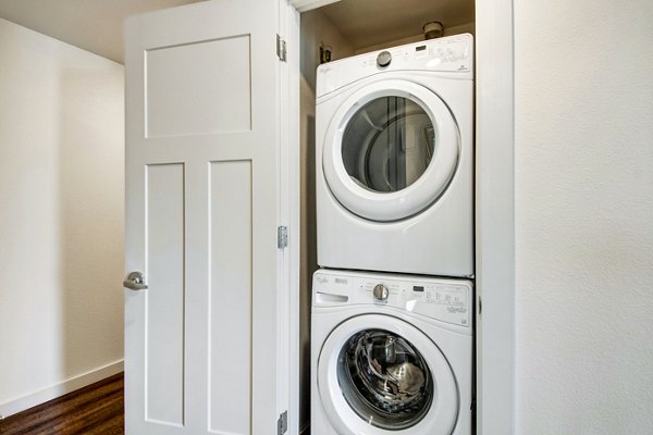
[[[470,435],[473,40],[317,77],[313,435]]]

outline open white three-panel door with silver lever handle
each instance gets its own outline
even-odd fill
[[[128,435],[275,434],[287,409],[284,14],[217,0],[126,23],[125,262],[147,286],[125,299]]]

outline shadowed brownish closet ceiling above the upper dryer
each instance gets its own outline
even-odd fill
[[[473,23],[473,0],[342,0],[321,9],[355,49],[422,33],[439,21],[446,27]]]

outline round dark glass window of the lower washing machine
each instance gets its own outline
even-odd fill
[[[361,331],[346,341],[337,378],[352,409],[385,430],[417,424],[433,400],[433,380],[423,357],[408,340],[384,330]]]

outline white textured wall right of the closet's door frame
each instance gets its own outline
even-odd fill
[[[517,434],[653,433],[652,22],[515,2]]]

